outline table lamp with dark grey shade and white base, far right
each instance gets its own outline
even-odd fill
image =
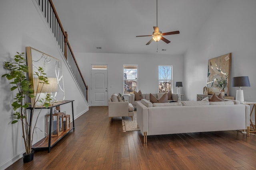
[[[248,76],[240,76],[232,78],[233,87],[238,87],[239,90],[236,90],[236,100],[239,102],[244,102],[244,91],[241,90],[241,87],[250,87],[250,81]]]

